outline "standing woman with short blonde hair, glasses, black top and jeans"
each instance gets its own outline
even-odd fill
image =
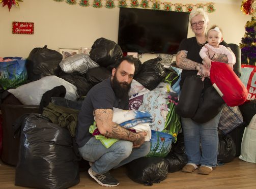
[[[194,9],[189,15],[189,22],[195,37],[184,39],[176,56],[176,64],[183,69],[181,73],[180,88],[187,76],[196,75],[197,72],[205,77],[204,90],[211,86],[209,69],[202,64],[199,55],[201,48],[207,43],[207,26],[209,18],[203,8]],[[229,50],[229,46],[222,41],[220,43]],[[234,54],[233,54],[234,55]],[[227,61],[226,55],[218,54],[215,61]],[[218,154],[218,123],[221,111],[206,123],[194,122],[191,118],[181,118],[184,133],[185,150],[188,163],[183,167],[184,172],[193,172],[199,166],[198,173],[208,175],[217,165]],[[202,153],[200,150],[202,146]]]

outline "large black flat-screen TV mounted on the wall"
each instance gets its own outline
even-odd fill
[[[186,12],[120,8],[118,44],[123,52],[175,54],[188,19]]]

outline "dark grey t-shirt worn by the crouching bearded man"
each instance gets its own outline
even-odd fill
[[[115,96],[115,92],[111,87],[110,78],[105,79],[91,88],[82,103],[78,115],[78,127],[76,133],[76,143],[78,144],[78,147],[82,147],[92,137],[92,134],[89,133],[89,128],[94,122],[94,110],[113,109],[113,107],[127,110],[128,100],[128,95],[124,100],[120,100]]]

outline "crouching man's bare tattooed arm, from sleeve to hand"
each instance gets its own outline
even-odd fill
[[[95,120],[99,132],[107,137],[128,140],[135,145],[141,145],[145,141],[143,132],[133,133],[121,127],[119,124],[112,122],[113,111],[111,109],[95,110]]]

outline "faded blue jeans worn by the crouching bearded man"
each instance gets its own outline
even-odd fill
[[[150,151],[150,142],[146,141],[139,148],[133,149],[132,142],[119,140],[106,148],[99,140],[92,137],[78,150],[84,160],[94,162],[92,170],[102,174],[147,155]]]

